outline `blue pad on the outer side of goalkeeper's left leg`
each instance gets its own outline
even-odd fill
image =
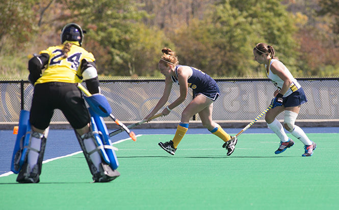
[[[31,136],[31,124],[30,124],[30,112],[27,110],[20,111],[19,117],[19,129],[16,135],[16,141],[11,162],[11,171],[17,174],[19,173],[28,149],[26,148],[30,143]]]

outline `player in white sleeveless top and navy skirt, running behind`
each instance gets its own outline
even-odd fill
[[[265,64],[268,78],[277,87],[273,94],[275,97],[272,100],[273,108],[265,115],[268,127],[280,138],[280,145],[275,154],[284,152],[294,144],[294,141],[286,135],[282,125],[275,118],[284,111],[284,128],[305,145],[305,153],[302,156],[311,156],[317,144],[309,140],[300,127],[294,125],[301,104],[307,102],[301,85],[292,76],[289,69],[275,57],[273,46],[259,43],[253,48],[253,54],[256,62]]]

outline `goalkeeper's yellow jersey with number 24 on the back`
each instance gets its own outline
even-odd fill
[[[49,59],[42,76],[35,84],[45,82],[77,83],[82,81],[81,63],[83,59],[87,62],[95,62],[95,58],[92,53],[80,47],[78,42],[71,43],[73,45],[70,47],[66,58],[62,57],[64,45],[48,47],[46,50],[40,51],[40,54],[48,54]]]

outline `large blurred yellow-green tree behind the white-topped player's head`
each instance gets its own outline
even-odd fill
[[[278,0],[220,1],[203,20],[192,23],[179,28],[172,40],[181,57],[188,57],[187,65],[211,75],[263,75],[262,69],[253,73],[258,64],[252,49],[259,42],[273,45],[284,63],[296,65],[293,17]]]

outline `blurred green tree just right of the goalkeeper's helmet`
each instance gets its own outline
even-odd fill
[[[99,73],[106,75],[152,75],[155,49],[166,43],[164,34],[142,24],[147,17],[142,5],[131,0],[72,1],[74,17],[88,28],[86,46],[97,56]],[[158,32],[159,31],[159,32]],[[89,43],[92,42],[92,43]]]

